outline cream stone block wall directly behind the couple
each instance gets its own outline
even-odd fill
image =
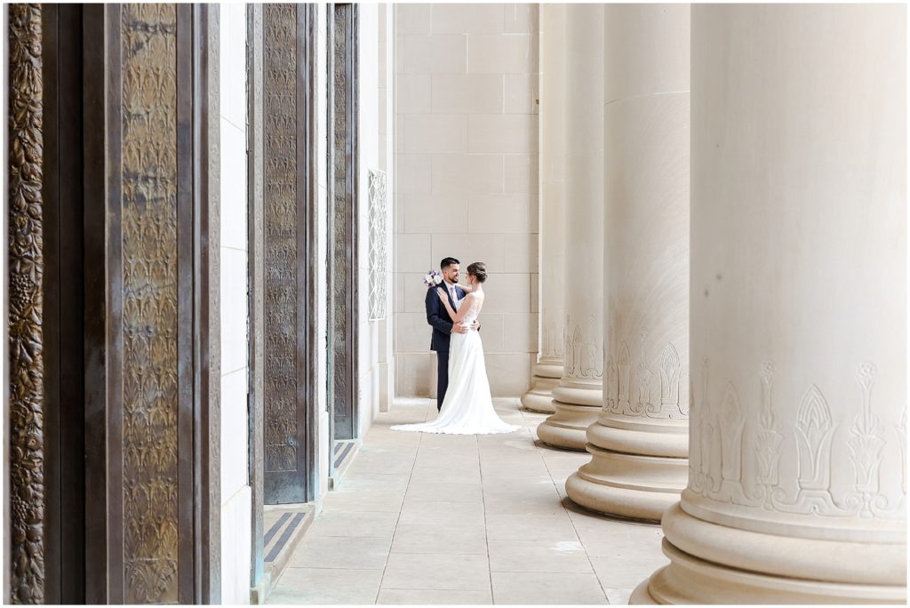
[[[487,264],[490,389],[520,397],[538,339],[538,6],[394,9],[396,394],[435,397],[420,279],[453,256]]]

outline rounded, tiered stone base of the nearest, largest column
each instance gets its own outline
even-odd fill
[[[902,539],[845,542],[750,532],[704,522],[678,503],[662,525],[671,563],[636,587],[630,603],[906,603]]]

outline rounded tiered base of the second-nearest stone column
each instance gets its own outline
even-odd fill
[[[635,520],[660,522],[679,501],[689,460],[623,454],[588,444],[591,462],[571,474],[566,493],[585,509]]]

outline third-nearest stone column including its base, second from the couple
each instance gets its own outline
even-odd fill
[[[583,451],[603,379],[603,5],[565,11],[565,353],[541,441]],[[558,272],[558,270],[556,270]]]

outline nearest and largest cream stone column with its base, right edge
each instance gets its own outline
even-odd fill
[[[906,601],[906,14],[694,5],[692,442],[659,603]]]

